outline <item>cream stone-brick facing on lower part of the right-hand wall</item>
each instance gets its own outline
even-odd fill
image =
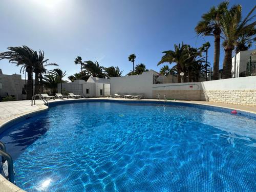
[[[206,90],[201,91],[201,100],[256,106],[256,90]]]

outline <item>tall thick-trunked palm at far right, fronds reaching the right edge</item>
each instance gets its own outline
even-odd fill
[[[248,13],[242,20],[242,6],[235,5],[230,10],[226,10],[225,14],[221,17],[221,29],[223,33],[223,47],[225,51],[223,61],[223,77],[231,78],[232,69],[232,51],[236,46],[239,37],[245,32],[254,29],[256,22],[248,24],[255,15],[251,16],[256,6]]]

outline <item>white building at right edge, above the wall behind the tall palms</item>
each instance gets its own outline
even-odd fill
[[[240,51],[232,57],[232,78],[255,73],[256,50]]]

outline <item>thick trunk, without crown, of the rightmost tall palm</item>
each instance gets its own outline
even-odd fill
[[[222,77],[224,79],[231,78],[231,70],[232,70],[232,50],[233,48],[231,46],[226,46],[224,48],[225,50],[225,56],[223,61],[223,72]]]

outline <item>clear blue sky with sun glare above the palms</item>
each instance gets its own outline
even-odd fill
[[[162,51],[184,42],[200,47],[210,41],[209,61],[213,64],[212,37],[197,37],[194,28],[203,13],[222,1],[176,0],[1,0],[0,52],[10,46],[27,45],[44,50],[68,75],[79,72],[76,56],[98,60],[101,66],[118,66],[123,75],[132,70],[127,57],[135,53],[135,63],[159,71]],[[245,16],[254,1],[241,4]],[[254,47],[254,46],[253,46]],[[221,50],[220,65],[223,61]],[[4,74],[19,73],[7,60],[0,61]],[[53,69],[53,68],[49,68]],[[67,76],[68,76],[67,75]]]

